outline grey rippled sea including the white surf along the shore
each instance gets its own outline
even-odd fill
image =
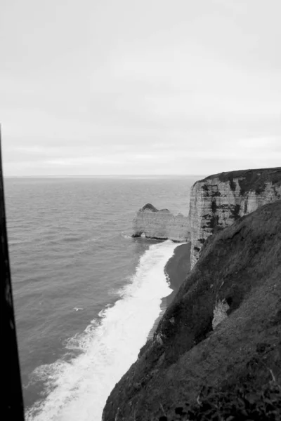
[[[101,420],[171,292],[176,244],[132,239],[133,217],[188,215],[197,179],[6,178],[26,420]]]

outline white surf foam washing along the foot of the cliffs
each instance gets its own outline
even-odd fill
[[[115,305],[67,341],[68,352],[79,351],[78,356],[34,371],[48,395],[27,410],[26,420],[101,420],[107,396],[136,361],[159,316],[161,299],[171,293],[164,267],[176,246],[169,240],[150,246]]]

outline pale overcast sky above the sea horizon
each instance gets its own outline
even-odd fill
[[[281,166],[280,0],[1,0],[4,175]]]

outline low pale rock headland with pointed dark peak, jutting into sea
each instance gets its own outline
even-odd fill
[[[133,236],[141,234],[148,239],[190,241],[189,218],[181,213],[173,215],[168,209],[158,210],[148,203],[133,220]]]

